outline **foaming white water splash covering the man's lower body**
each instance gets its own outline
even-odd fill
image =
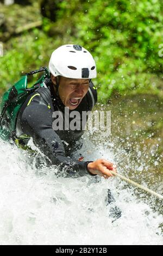
[[[161,245],[162,216],[137,200],[117,179],[57,178],[56,169],[41,175],[26,152],[1,143],[0,243],[3,245]],[[88,152],[89,151],[89,152]],[[106,157],[110,150],[86,142],[85,160]],[[78,154],[78,152],[76,153]],[[89,157],[88,157],[89,154]],[[112,222],[106,206],[110,188],[122,217]]]

